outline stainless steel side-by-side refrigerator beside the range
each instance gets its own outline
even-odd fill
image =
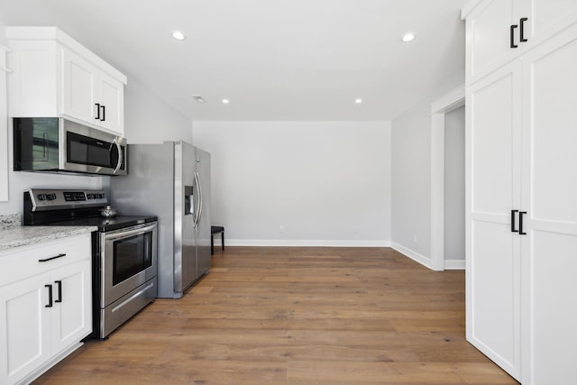
[[[129,144],[128,175],[110,180],[122,215],[159,217],[159,298],[181,298],[210,269],[210,154],[187,142]]]

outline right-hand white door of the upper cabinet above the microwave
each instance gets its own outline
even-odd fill
[[[100,73],[100,103],[104,105],[101,116],[101,127],[124,136],[124,84],[107,75]]]

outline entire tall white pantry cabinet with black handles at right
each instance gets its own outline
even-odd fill
[[[575,0],[463,8],[467,339],[527,384],[577,383],[576,11]]]

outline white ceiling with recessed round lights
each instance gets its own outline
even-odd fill
[[[59,27],[193,120],[380,121],[463,82],[465,2],[0,0],[0,21]]]

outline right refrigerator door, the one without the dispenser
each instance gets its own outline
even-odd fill
[[[210,269],[210,154],[195,149],[197,164],[197,183],[200,191],[200,210],[197,220],[197,266],[198,276]]]

